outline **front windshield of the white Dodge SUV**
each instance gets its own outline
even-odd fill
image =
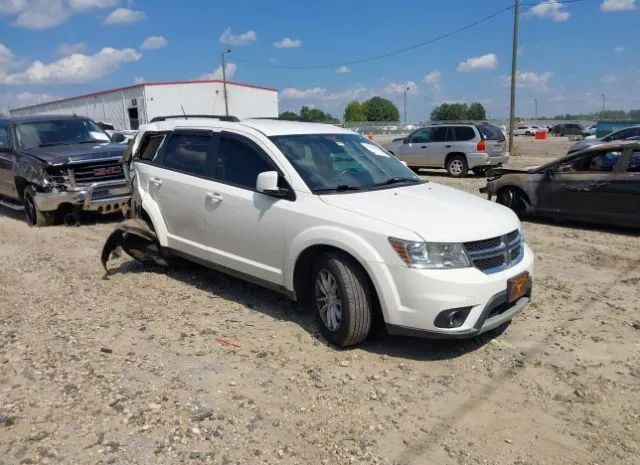
[[[304,134],[271,140],[314,192],[422,182],[393,155],[357,134]]]

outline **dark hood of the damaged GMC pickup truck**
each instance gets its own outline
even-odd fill
[[[23,153],[38,158],[50,165],[66,165],[89,160],[118,158],[122,156],[126,145],[111,142],[92,144],[52,145],[50,147],[32,147]]]

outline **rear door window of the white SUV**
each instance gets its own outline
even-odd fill
[[[167,143],[164,166],[188,174],[205,176],[211,143],[210,135],[174,134]]]

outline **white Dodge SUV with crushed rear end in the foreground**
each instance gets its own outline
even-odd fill
[[[511,210],[422,181],[352,131],[170,117],[141,126],[132,153],[133,215],[163,255],[308,303],[339,346],[377,313],[392,334],[470,337],[529,301]]]

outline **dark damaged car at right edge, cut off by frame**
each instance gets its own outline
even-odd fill
[[[640,141],[591,147],[532,169],[492,169],[480,192],[519,216],[640,228]]]

